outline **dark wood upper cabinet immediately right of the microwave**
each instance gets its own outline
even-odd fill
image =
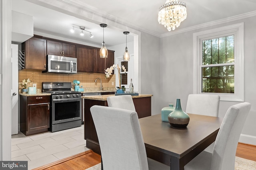
[[[77,71],[94,73],[95,56],[96,49],[76,45]]]

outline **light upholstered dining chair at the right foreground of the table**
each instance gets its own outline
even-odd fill
[[[216,137],[213,153],[203,151],[184,170],[234,170],[236,147],[251,104],[229,107]]]

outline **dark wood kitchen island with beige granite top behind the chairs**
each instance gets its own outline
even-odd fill
[[[108,96],[115,95],[82,96],[82,99],[84,99],[84,139],[86,140],[86,147],[92,149],[98,154],[100,154],[100,146],[90,108],[94,105],[108,106]],[[139,94],[138,96],[132,96],[139,118],[151,116],[152,96],[152,94]]]

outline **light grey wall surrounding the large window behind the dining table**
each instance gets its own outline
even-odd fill
[[[161,61],[160,65],[158,65],[160,68],[159,75],[161,75],[161,78],[158,86],[161,87],[162,90],[156,90],[153,92],[153,94],[161,93],[161,97],[158,98],[158,100],[161,101],[159,102],[158,109],[168,106],[168,103],[176,104],[176,98],[180,98],[182,109],[186,109],[188,94],[193,93],[193,33],[244,22],[244,102],[251,103],[252,108],[242,130],[240,142],[256,145],[255,20],[256,16],[161,38]],[[221,101],[219,116],[224,117],[228,107],[237,103],[238,102]],[[248,140],[248,138],[250,138],[250,140]]]

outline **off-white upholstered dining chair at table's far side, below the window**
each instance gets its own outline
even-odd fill
[[[215,94],[189,94],[186,106],[186,113],[218,117],[220,96]],[[213,152],[214,143],[208,146],[205,151]]]

